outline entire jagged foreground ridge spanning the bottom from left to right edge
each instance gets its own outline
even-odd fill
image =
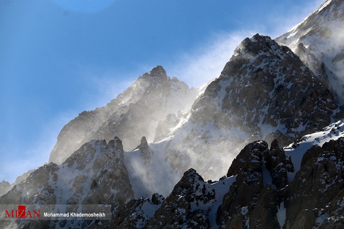
[[[251,142],[237,155],[227,177],[205,182],[189,169],[166,198],[155,193],[151,199],[134,199],[121,141],[93,140],[62,165],[38,168],[0,197],[0,203],[111,204],[112,220],[96,228],[342,227],[343,136],[340,120],[285,148],[277,140],[270,149],[265,141]],[[146,145],[143,138],[141,150]],[[24,220],[10,226],[94,228],[85,222]],[[9,223],[1,221],[0,226]]]

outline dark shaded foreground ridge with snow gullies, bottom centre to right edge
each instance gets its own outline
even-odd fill
[[[340,120],[284,148],[251,142],[226,177],[189,169],[162,203],[132,201],[112,228],[342,228],[343,136]]]

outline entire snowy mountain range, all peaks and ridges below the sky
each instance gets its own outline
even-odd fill
[[[343,5],[244,39],[198,89],[153,68],[65,125],[49,164],[0,183],[0,207],[110,205],[110,220],[0,228],[344,227]]]

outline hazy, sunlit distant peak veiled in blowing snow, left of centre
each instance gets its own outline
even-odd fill
[[[75,150],[92,139],[118,136],[125,150],[135,148],[142,136],[151,141],[158,122],[169,113],[190,109],[198,91],[166,75],[157,66],[140,76],[130,87],[104,107],[84,111],[63,127],[49,161],[61,164]]]

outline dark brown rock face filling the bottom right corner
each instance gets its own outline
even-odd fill
[[[286,228],[343,227],[343,209],[339,207],[343,203],[343,187],[344,138],[307,150],[301,169],[286,188]]]

